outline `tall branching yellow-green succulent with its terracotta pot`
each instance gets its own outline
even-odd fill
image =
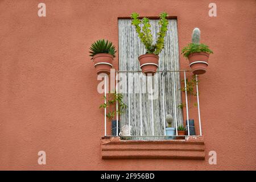
[[[135,26],[138,36],[146,48],[146,54],[139,56],[139,64],[141,66],[142,72],[146,75],[148,73],[154,74],[156,73],[156,69],[158,69],[158,55],[164,48],[164,36],[166,36],[168,26],[168,20],[166,19],[167,16],[167,13],[160,14],[160,20],[158,22],[160,26],[158,38],[154,44],[150,31],[151,26],[149,19],[139,19],[138,13],[131,14],[131,19],[133,19],[131,24]],[[139,26],[140,24],[143,24],[142,28]]]

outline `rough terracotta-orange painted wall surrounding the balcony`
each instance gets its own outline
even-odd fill
[[[255,1],[43,1],[39,18],[40,2],[0,1],[0,169],[256,169]],[[214,51],[200,77],[205,161],[101,159],[104,114],[88,49],[100,38],[118,46],[118,17],[134,11],[167,11],[180,49],[199,27]],[[211,150],[217,165],[208,164]]]

